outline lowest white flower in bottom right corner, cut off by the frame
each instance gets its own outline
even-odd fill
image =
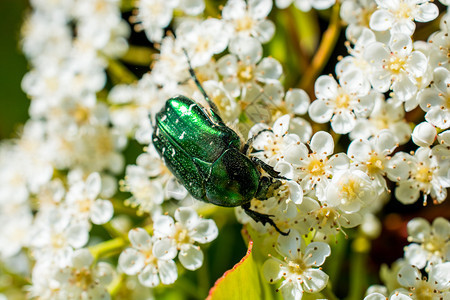
[[[428,279],[412,265],[403,266],[398,272],[397,280],[405,287],[413,299],[448,299],[450,297],[450,262],[433,265],[428,272]]]

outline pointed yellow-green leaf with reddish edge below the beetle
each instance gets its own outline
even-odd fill
[[[261,278],[252,249],[253,241],[250,241],[247,254],[216,281],[207,300],[272,299],[268,284]]]

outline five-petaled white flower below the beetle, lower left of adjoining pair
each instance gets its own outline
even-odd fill
[[[177,250],[169,239],[154,241],[142,228],[130,230],[128,237],[132,247],[119,256],[119,266],[125,274],[138,274],[139,282],[147,287],[155,287],[160,282],[172,284],[177,280],[178,271],[173,261]]]

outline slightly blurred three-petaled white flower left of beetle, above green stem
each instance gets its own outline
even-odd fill
[[[81,221],[91,220],[94,224],[105,224],[113,214],[112,203],[99,199],[101,178],[98,173],[92,173],[86,181],[74,183],[66,196],[66,203],[74,218]]]

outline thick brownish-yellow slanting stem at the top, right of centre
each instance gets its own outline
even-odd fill
[[[341,24],[339,18],[339,4],[333,6],[330,18],[330,24],[327,30],[324,32],[322,40],[320,41],[319,48],[311,62],[306,68],[306,72],[298,86],[308,92],[310,95],[314,92],[314,81],[319,76],[325,67],[331,53],[334,50],[337,39],[339,37]]]

